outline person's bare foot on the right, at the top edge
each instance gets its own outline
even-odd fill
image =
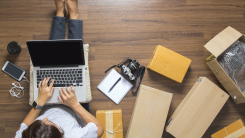
[[[78,19],[78,0],[65,0],[70,19]]]

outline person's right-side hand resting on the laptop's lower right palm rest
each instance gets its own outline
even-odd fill
[[[71,108],[75,107],[76,105],[80,105],[77,101],[77,96],[75,94],[74,87],[71,86],[71,90],[69,87],[62,88],[59,90],[60,96],[58,96],[59,101],[64,105],[67,105]]]

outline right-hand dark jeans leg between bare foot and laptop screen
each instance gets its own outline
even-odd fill
[[[83,39],[83,21],[77,19],[68,20],[68,39]]]

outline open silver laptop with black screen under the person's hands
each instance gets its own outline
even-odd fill
[[[73,86],[79,102],[86,101],[85,59],[83,41],[38,40],[27,41],[33,64],[34,100],[38,98],[38,84],[44,78],[54,79],[54,93],[47,103],[60,103],[59,89]]]

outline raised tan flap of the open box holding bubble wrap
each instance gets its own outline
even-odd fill
[[[211,39],[204,47],[215,57],[218,57],[241,36],[242,34],[240,32],[228,26]]]

